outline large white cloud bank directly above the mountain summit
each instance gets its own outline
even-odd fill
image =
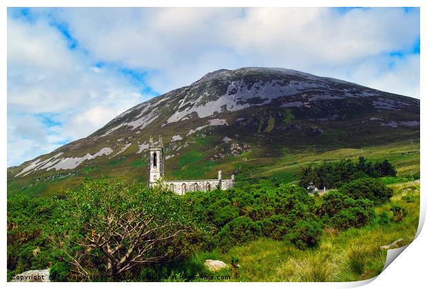
[[[419,36],[419,10],[401,8],[88,8],[61,18],[102,61],[154,69],[148,81],[158,92],[242,66],[322,75],[338,65],[345,78],[362,59],[409,50]]]

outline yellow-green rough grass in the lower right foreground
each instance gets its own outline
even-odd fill
[[[201,266],[205,259],[220,259],[227,264],[238,257],[240,268],[230,281],[359,281],[382,272],[386,250],[379,248],[397,239],[409,244],[415,237],[419,217],[419,182],[389,185],[393,191],[390,202],[376,208],[377,213],[390,213],[398,204],[408,210],[402,222],[388,226],[377,222],[346,231],[326,229],[320,245],[298,250],[288,242],[260,238],[231,248],[227,253],[213,251],[196,253],[190,259]],[[408,197],[411,200],[408,202]],[[230,269],[221,271],[230,275]]]

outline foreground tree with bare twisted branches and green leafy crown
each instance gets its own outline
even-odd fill
[[[83,279],[92,268],[118,279],[144,264],[174,259],[187,252],[180,237],[192,231],[189,208],[178,195],[125,181],[86,181],[69,192],[63,211],[65,230],[57,237],[63,260]]]

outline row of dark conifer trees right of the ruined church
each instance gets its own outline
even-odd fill
[[[313,183],[317,188],[339,188],[346,182],[360,178],[379,178],[395,176],[396,169],[388,160],[382,162],[368,162],[360,157],[357,162],[340,160],[340,162],[324,162],[319,167],[313,164],[301,167],[298,173],[300,186],[307,187]]]

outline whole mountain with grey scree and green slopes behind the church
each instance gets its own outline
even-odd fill
[[[8,168],[8,192],[52,191],[101,175],[145,181],[150,135],[163,137],[167,179],[213,178],[218,169],[249,178],[304,151],[419,140],[419,109],[415,98],[291,69],[220,69]]]

